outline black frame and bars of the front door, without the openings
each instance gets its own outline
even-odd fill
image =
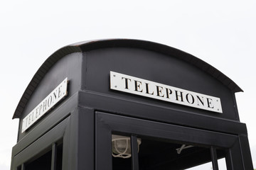
[[[211,151],[213,170],[218,170],[216,148],[225,148],[227,169],[244,169],[237,135],[98,111],[95,112],[95,121],[95,169],[97,170],[112,170],[111,136],[113,132],[129,134],[134,151],[137,149],[134,147],[137,135],[208,146]],[[132,152],[132,169],[138,170],[138,164],[137,152]]]

